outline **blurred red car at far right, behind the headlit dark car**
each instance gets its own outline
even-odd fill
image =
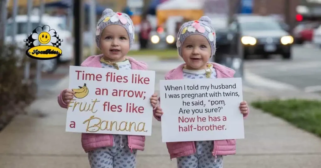
[[[299,23],[293,29],[294,41],[296,44],[303,44],[304,42],[312,42],[313,38],[313,30],[318,28],[320,23],[312,22],[312,23]]]

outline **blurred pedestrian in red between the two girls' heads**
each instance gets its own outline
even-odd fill
[[[146,19],[146,15],[142,15],[139,32],[139,44],[141,49],[146,49],[148,44],[149,35],[152,31],[151,23]]]

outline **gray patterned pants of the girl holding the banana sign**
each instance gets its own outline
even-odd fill
[[[127,135],[114,135],[114,146],[88,152],[91,168],[135,168],[136,152],[130,152]]]

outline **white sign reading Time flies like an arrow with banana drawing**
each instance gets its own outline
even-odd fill
[[[70,66],[66,132],[152,134],[155,71]]]

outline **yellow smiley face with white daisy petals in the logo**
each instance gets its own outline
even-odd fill
[[[36,32],[32,33],[31,37],[34,39],[33,45],[53,45],[53,43],[57,42],[57,37],[55,37],[56,31],[54,29],[50,29],[48,25],[43,27],[36,28]]]

